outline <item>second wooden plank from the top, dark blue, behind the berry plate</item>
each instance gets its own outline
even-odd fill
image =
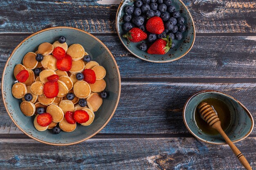
[[[124,48],[117,36],[98,34],[96,36],[108,46],[114,55],[123,79],[256,78],[256,36],[197,37],[193,48],[186,56],[169,63],[150,63],[140,60]],[[11,51],[26,37],[27,35],[0,36],[0,74]]]

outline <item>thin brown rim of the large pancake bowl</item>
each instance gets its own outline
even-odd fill
[[[86,137],[85,139],[81,139],[79,141],[75,141],[75,142],[71,142],[71,143],[67,143],[67,144],[56,144],[56,143],[52,143],[52,142],[47,142],[47,141],[43,141],[43,140],[40,140],[40,139],[37,139],[36,137],[33,137],[31,135],[29,135],[25,130],[23,130],[22,128],[20,128],[20,126],[18,126],[18,124],[16,123],[16,121],[14,121],[14,119],[12,118],[11,114],[9,113],[9,110],[7,108],[7,104],[6,104],[6,101],[5,101],[5,97],[4,97],[4,91],[3,91],[3,84],[4,84],[4,74],[5,74],[5,70],[7,68],[7,65],[8,65],[8,62],[9,60],[11,59],[13,53],[16,52],[16,50],[20,47],[21,44],[23,44],[26,40],[28,40],[29,38],[33,37],[34,35],[37,35],[38,33],[42,33],[42,32],[45,32],[45,31],[48,31],[48,30],[52,30],[52,29],[74,29],[76,31],[81,31],[89,36],[91,36],[92,38],[94,38],[94,40],[96,40],[97,42],[99,42],[103,47],[105,47],[105,49],[108,51],[108,53],[110,54],[110,56],[112,57],[112,60],[114,61],[114,64],[117,68],[117,75],[118,75],[118,85],[119,85],[119,89],[118,89],[118,97],[117,97],[117,103],[115,105],[115,108],[113,110],[113,112],[111,113],[110,117],[108,118],[108,120],[106,121],[105,124],[103,124],[103,126],[101,128],[99,128],[99,130],[97,130],[96,132],[94,132],[92,135],[90,135],[89,137]],[[32,35],[29,35],[27,38],[25,38],[22,42],[20,42],[20,44],[18,44],[18,46],[16,46],[16,48],[12,51],[11,55],[9,56],[5,66],[4,66],[4,70],[3,70],[3,73],[2,73],[2,98],[3,98],[3,102],[4,102],[4,107],[9,115],[9,117],[11,118],[11,120],[13,121],[13,123],[23,132],[25,133],[27,136],[29,136],[30,138],[32,139],[35,139],[36,141],[39,141],[39,142],[42,142],[44,144],[49,144],[49,145],[54,145],[54,146],[67,146],[67,145],[74,145],[74,144],[79,144],[87,139],[90,139],[91,137],[93,137],[94,135],[96,135],[98,132],[100,132],[107,124],[108,122],[110,121],[110,119],[112,118],[112,116],[114,115],[115,113],[115,110],[117,109],[117,106],[118,106],[118,103],[119,103],[119,99],[120,99],[120,95],[121,95],[121,76],[120,76],[120,73],[119,73],[119,69],[118,69],[118,66],[117,66],[117,62],[114,58],[114,56],[112,55],[112,53],[110,52],[110,50],[108,49],[108,47],[103,44],[103,42],[101,42],[101,40],[99,40],[98,38],[96,38],[94,35],[86,32],[86,31],[83,31],[81,29],[77,29],[77,28],[74,28],[74,27],[68,27],[68,26],[56,26],[56,27],[51,27],[51,28],[47,28],[47,29],[43,29],[43,30],[40,30],[40,31],[37,31],[36,33],[33,33]]]

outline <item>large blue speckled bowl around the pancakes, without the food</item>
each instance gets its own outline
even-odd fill
[[[58,37],[65,36],[67,44],[81,44],[85,51],[92,56],[92,60],[98,62],[106,69],[106,91],[109,96],[103,99],[103,104],[97,112],[90,126],[77,125],[73,132],[62,131],[54,135],[51,130],[40,132],[34,128],[34,117],[23,115],[20,110],[21,99],[16,99],[11,93],[11,88],[16,81],[13,68],[22,63],[23,56],[29,51],[36,51],[43,42],[53,43]],[[96,37],[83,30],[72,27],[52,27],[38,31],[23,40],[11,53],[7,60],[2,75],[2,97],[7,113],[13,123],[29,137],[50,145],[72,145],[85,141],[96,135],[108,124],[117,108],[121,93],[121,79],[119,69],[113,55],[108,48]]]

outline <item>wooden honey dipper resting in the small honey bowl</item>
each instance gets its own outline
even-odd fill
[[[247,170],[252,170],[250,164],[246,160],[245,156],[236,148],[236,146],[233,144],[233,142],[229,139],[229,137],[226,135],[226,133],[222,130],[220,126],[220,119],[218,118],[217,113],[213,108],[206,102],[201,103],[198,106],[199,113],[204,119],[204,121],[207,122],[211,127],[214,129],[218,130],[220,135],[225,139],[229,147],[232,149],[234,154],[236,155],[237,159],[240,161],[240,163],[247,169]]]

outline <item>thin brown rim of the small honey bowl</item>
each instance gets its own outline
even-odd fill
[[[209,143],[209,144],[216,144],[216,145],[227,144],[227,143],[225,143],[225,142],[222,142],[222,143],[211,142],[211,141],[207,141],[207,140],[205,140],[205,139],[202,139],[202,138],[198,137],[195,133],[193,133],[193,132],[190,130],[189,126],[188,126],[187,123],[186,123],[186,119],[185,119],[185,110],[186,110],[186,106],[188,105],[188,103],[191,101],[191,99],[192,99],[193,97],[197,96],[197,95],[200,94],[200,93],[205,93],[205,92],[216,92],[216,93],[221,93],[221,94],[223,94],[223,95],[226,95],[226,96],[228,96],[228,97],[231,97],[232,99],[236,100],[236,102],[238,102],[238,104],[240,104],[240,105],[246,110],[247,115],[248,115],[249,118],[251,119],[251,121],[252,121],[252,126],[251,126],[251,128],[250,128],[250,131],[249,131],[244,137],[242,137],[241,139],[237,139],[237,140],[232,141],[233,143],[236,143],[236,142],[238,142],[238,141],[241,141],[241,140],[245,139],[246,137],[248,137],[248,136],[251,134],[251,132],[252,132],[252,130],[253,130],[253,128],[254,128],[254,120],[253,120],[253,118],[252,118],[252,114],[249,112],[249,110],[248,110],[241,102],[239,102],[239,101],[238,101],[237,99],[235,99],[234,97],[232,97],[232,96],[230,96],[230,95],[227,95],[227,94],[225,94],[225,93],[222,93],[222,92],[220,92],[220,91],[205,90],[205,91],[199,91],[199,92],[194,93],[193,95],[191,95],[191,97],[189,97],[189,99],[186,101],[186,103],[185,103],[185,105],[184,105],[184,108],[183,108],[183,113],[182,113],[182,115],[183,115],[184,124],[185,124],[186,128],[189,130],[189,132],[191,132],[191,134],[192,134],[193,136],[195,136],[195,137],[196,137],[197,139],[199,139],[200,141],[204,141],[204,142],[207,142],[207,143]]]

